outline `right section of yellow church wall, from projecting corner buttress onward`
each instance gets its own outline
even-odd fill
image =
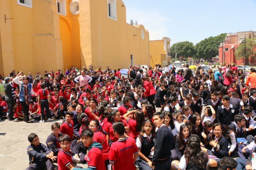
[[[116,1],[116,21],[108,18],[108,1],[100,2],[79,2],[81,9],[90,6],[90,10],[81,11],[79,17],[83,64],[86,67],[93,64],[103,68],[127,68],[131,64],[130,55],[133,55],[133,64],[149,64],[148,31],[143,25],[135,27],[126,23],[126,8],[121,0]],[[141,38],[141,30],[144,31],[144,40]]]

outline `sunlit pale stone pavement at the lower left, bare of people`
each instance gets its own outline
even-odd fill
[[[27,136],[30,133],[36,133],[40,142],[46,145],[46,139],[52,133],[51,125],[55,121],[39,123],[34,120],[32,123],[25,123],[2,120],[0,122],[0,170],[25,170],[29,166],[27,146],[30,143]],[[84,164],[77,165],[87,167]]]

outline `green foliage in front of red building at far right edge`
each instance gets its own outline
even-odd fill
[[[245,46],[246,46],[246,54],[245,54]],[[253,48],[256,46],[256,37],[253,38],[246,38],[246,44],[243,40],[240,46],[235,50],[235,57],[236,59],[246,58],[249,57],[255,58],[256,50],[253,51]]]

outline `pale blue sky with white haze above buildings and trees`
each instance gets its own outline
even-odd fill
[[[256,0],[123,0],[126,19],[143,24],[150,40],[194,44],[221,33],[256,31]]]

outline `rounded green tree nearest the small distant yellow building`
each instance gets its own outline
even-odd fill
[[[193,43],[189,41],[183,41],[183,42],[173,44],[170,48],[172,58],[175,57],[176,49],[177,49],[177,59],[181,62],[187,59],[188,57],[192,57],[195,55],[195,49],[194,49]]]

